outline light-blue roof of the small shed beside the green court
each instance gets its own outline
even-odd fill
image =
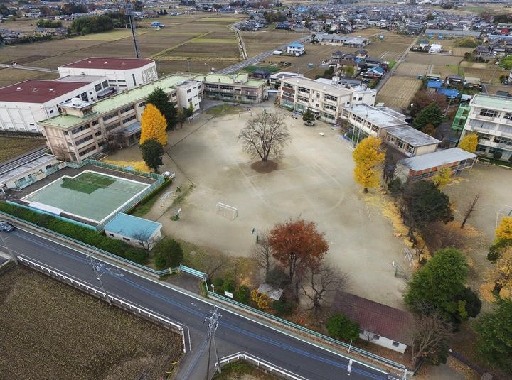
[[[146,241],[160,228],[161,223],[119,212],[114,219],[107,223],[105,231]]]

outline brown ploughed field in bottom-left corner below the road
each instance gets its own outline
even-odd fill
[[[0,305],[1,379],[157,379],[181,357],[179,335],[23,266]]]

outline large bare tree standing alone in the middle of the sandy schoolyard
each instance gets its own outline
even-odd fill
[[[265,163],[270,157],[278,160],[292,136],[284,124],[284,114],[263,110],[247,121],[238,139],[242,140],[245,153],[260,157]]]

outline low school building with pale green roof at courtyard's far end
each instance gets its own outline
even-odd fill
[[[249,74],[208,74],[197,75],[194,79],[202,82],[204,99],[254,104],[266,97],[267,81],[251,79]]]

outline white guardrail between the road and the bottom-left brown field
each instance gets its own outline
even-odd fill
[[[48,274],[48,276],[56,278],[65,283],[69,283],[71,286],[75,286],[75,288],[79,288],[80,290],[85,291],[86,293],[94,293],[95,295],[100,295],[103,299],[105,299],[105,292],[100,291],[93,286],[87,285],[86,283],[82,283],[81,281],[78,281],[75,278],[66,276],[65,274],[60,273],[59,271],[56,271],[53,268],[49,268],[48,266],[43,265],[43,264],[38,264],[38,263],[36,263],[36,261],[33,261],[31,259],[26,259],[23,256],[18,256],[18,261],[25,264],[26,266],[33,267],[37,271],[41,271],[42,273]],[[146,308],[142,308],[142,306],[135,305],[134,303],[131,303],[127,300],[123,300],[122,298],[119,298],[117,296],[109,294],[108,298],[110,298],[110,300],[112,300],[112,303],[118,305],[120,308],[122,308],[124,310],[130,311],[130,312],[134,313],[135,315],[149,317],[149,318],[151,318],[151,320],[158,322],[160,325],[169,327],[170,330],[178,330],[178,332],[181,334],[181,338],[182,338],[182,342],[183,342],[183,353],[186,354],[187,350],[186,350],[186,343],[185,343],[185,329],[178,322],[173,322],[166,317],[162,317],[161,315],[158,315],[154,311],[148,310]],[[138,312],[138,313],[136,313],[136,312]],[[188,349],[190,349],[192,351],[190,330],[188,329],[188,326],[185,326],[185,327],[187,329],[187,335],[188,335]]]

